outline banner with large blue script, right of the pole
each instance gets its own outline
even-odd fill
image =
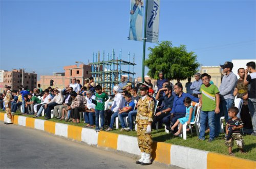
[[[147,0],[146,42],[158,43],[160,0]]]

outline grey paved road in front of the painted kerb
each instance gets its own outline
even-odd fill
[[[3,122],[0,122],[0,150],[0,168],[167,168],[156,163],[141,166],[124,153]]]

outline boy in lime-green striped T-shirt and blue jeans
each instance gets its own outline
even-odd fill
[[[201,75],[203,85],[200,88],[201,99],[200,105],[202,105],[200,112],[200,133],[198,140],[205,139],[206,120],[210,128],[210,138],[208,142],[211,142],[215,138],[215,123],[219,123],[215,120],[216,114],[220,113],[220,94],[217,86],[210,84],[210,77],[207,73]]]

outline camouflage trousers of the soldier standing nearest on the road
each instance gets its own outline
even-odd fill
[[[150,154],[152,152],[152,135],[146,133],[146,128],[138,128],[137,130],[138,145],[141,152]]]

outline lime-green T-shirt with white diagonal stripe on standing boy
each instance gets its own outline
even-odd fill
[[[216,98],[215,95],[219,93],[219,89],[215,85],[210,85],[206,87],[204,85],[200,88],[200,93],[202,94],[202,111],[213,111],[216,108]]]

